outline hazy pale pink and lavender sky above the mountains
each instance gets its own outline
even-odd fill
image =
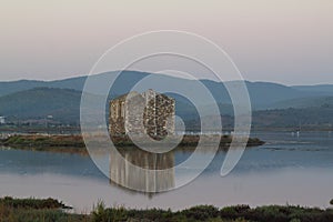
[[[333,83],[332,0],[1,0],[0,81],[82,75],[124,38],[176,29],[223,48],[243,77]]]

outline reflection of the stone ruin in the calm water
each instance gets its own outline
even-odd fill
[[[110,153],[111,182],[142,192],[160,192],[174,188],[174,153],[149,153],[122,150]],[[150,171],[148,171],[150,170]]]

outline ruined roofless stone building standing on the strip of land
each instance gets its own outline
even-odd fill
[[[111,135],[174,134],[174,112],[175,101],[165,94],[130,92],[110,101],[109,130]]]

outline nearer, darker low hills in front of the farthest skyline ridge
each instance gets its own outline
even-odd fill
[[[0,97],[0,115],[9,120],[20,121],[41,120],[46,121],[48,115],[52,115],[52,121],[64,124],[80,123],[80,101],[81,91],[59,88],[34,88],[26,91],[14,92]],[[284,104],[297,105],[297,109],[289,108]],[[303,104],[311,104],[304,107]],[[223,115],[223,125],[232,128],[233,118],[231,104],[218,103]],[[295,99],[281,102],[281,109],[261,110],[253,112],[253,125],[255,128],[297,128],[299,124],[307,127],[332,127],[333,125],[333,97]],[[108,109],[108,107],[105,107]],[[202,107],[204,123],[210,127],[218,121],[214,117],[209,117],[210,105]],[[108,115],[108,110],[107,113]],[[181,117],[186,125],[196,129],[199,115],[193,104],[182,98],[176,98],[176,115]],[[107,117],[105,117],[107,118]],[[190,129],[191,129],[190,128]]]

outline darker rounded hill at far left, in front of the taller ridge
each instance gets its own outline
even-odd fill
[[[20,120],[43,119],[79,123],[81,92],[69,89],[36,88],[0,98],[0,113]]]

